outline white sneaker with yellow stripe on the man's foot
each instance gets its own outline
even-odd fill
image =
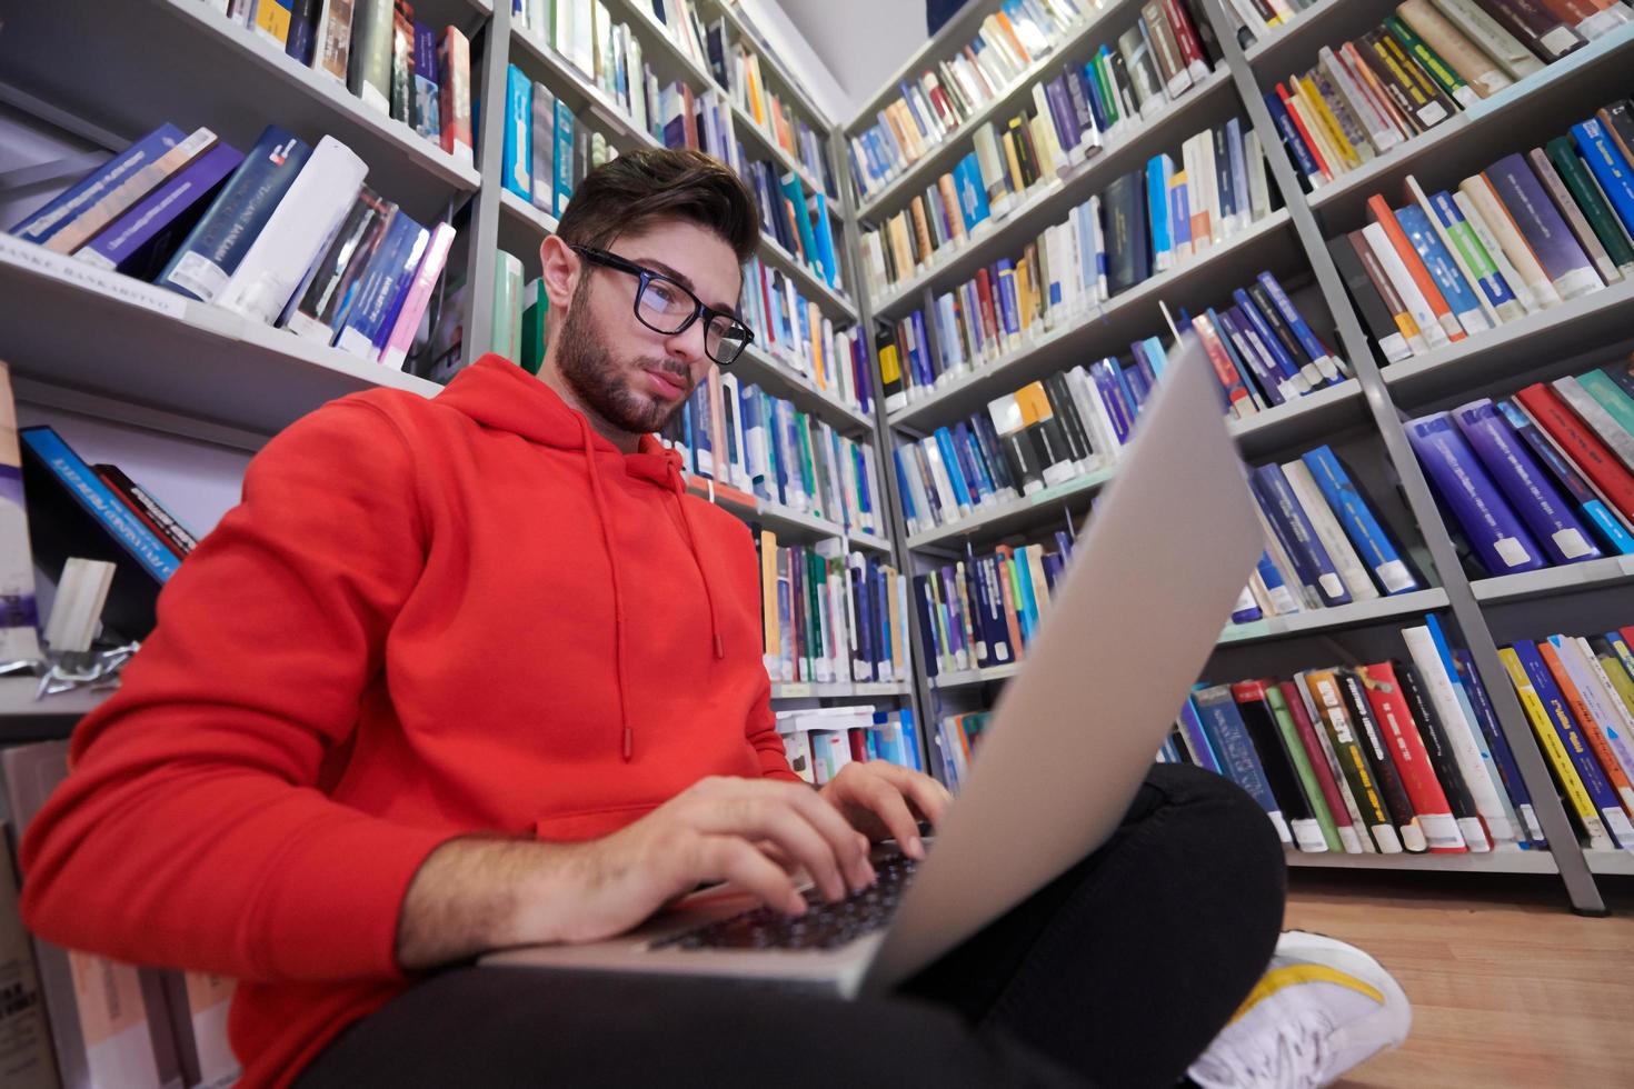
[[[1230,1024],[1186,1071],[1203,1089],[1317,1089],[1407,1038],[1400,985],[1355,945],[1288,931]]]

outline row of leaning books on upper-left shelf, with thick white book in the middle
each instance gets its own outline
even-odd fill
[[[248,153],[163,124],[11,227],[11,235],[402,367],[454,240],[364,184],[340,140],[268,126]]]

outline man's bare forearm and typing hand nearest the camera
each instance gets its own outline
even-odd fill
[[[830,805],[804,784],[716,777],[590,842],[449,841],[408,885],[397,962],[418,970],[505,945],[601,940],[704,882],[732,882],[770,908],[802,914],[794,878],[770,856],[804,869],[825,898],[840,900],[874,882],[868,838],[846,816],[886,805],[861,785],[877,776],[845,779],[859,782],[858,800],[845,805]],[[941,800],[928,797],[940,811]],[[912,831],[905,807],[900,818]]]

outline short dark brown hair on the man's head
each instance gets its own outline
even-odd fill
[[[721,235],[745,264],[760,238],[755,198],[732,168],[690,149],[626,152],[592,170],[574,189],[557,237],[569,245],[613,245],[654,219],[685,219]]]

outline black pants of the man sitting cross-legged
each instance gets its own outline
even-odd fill
[[[1248,795],[1160,764],[1100,851],[900,996],[453,968],[343,1032],[296,1084],[1173,1086],[1265,970],[1283,888]]]

